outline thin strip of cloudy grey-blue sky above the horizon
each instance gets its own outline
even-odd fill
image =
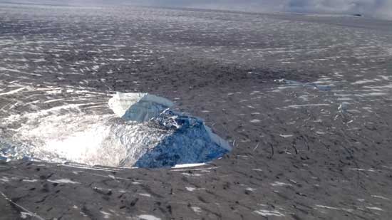
[[[59,4],[135,4],[243,11],[364,14],[392,19],[392,0],[0,0]]]

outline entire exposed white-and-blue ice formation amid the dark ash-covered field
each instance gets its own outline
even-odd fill
[[[165,98],[117,93],[108,105],[114,115],[91,115],[78,106],[11,115],[4,125],[20,127],[11,139],[0,138],[0,159],[173,167],[210,162],[231,150],[200,118],[170,110],[174,104]]]

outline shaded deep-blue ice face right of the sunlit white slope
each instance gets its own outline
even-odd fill
[[[165,111],[155,121],[172,129],[160,144],[135,163],[136,167],[173,167],[175,164],[210,162],[231,150],[197,117]]]

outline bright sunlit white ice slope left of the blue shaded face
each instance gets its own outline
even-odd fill
[[[68,113],[22,120],[26,122],[13,145],[0,151],[7,159],[131,167],[172,132],[113,115]]]

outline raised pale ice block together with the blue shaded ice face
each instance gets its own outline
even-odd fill
[[[109,105],[123,120],[150,121],[171,131],[171,135],[145,152],[135,167],[210,162],[232,150],[202,119],[170,110],[174,103],[165,98],[148,93],[116,93]]]

